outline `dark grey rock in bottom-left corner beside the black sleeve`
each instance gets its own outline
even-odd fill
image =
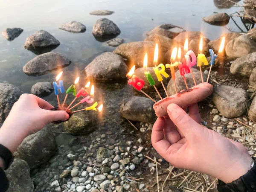
[[[15,159],[5,173],[9,180],[8,192],[33,192],[34,183],[30,178],[30,169],[26,161]]]

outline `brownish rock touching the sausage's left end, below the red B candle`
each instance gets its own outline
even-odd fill
[[[153,109],[154,102],[145,97],[133,96],[122,100],[121,116],[131,121],[153,123],[157,119]]]

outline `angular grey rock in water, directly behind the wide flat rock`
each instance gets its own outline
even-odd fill
[[[40,30],[33,35],[26,38],[24,47],[29,50],[38,50],[45,48],[56,48],[60,45],[60,42],[53,37],[49,32]]]

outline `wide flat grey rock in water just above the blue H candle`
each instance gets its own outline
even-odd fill
[[[23,67],[23,72],[29,76],[41,76],[53,70],[67,67],[71,61],[64,55],[56,52],[47,52],[38,55]]]

